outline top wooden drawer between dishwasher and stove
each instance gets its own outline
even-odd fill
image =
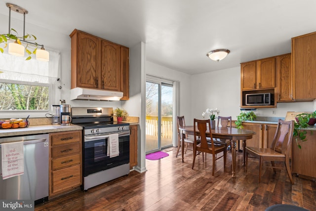
[[[51,135],[52,146],[79,142],[81,139],[81,131],[58,132]]]

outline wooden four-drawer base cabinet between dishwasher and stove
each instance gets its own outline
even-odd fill
[[[55,197],[82,184],[81,130],[54,132],[49,138],[49,197]]]

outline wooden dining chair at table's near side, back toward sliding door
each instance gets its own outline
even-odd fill
[[[210,142],[206,140],[206,131],[209,130]],[[198,139],[200,143],[198,143]],[[198,153],[197,153],[198,152]],[[208,120],[197,120],[194,119],[194,144],[193,144],[193,164],[192,169],[194,168],[194,163],[196,161],[196,156],[200,152],[202,153],[209,153],[213,155],[213,169],[212,175],[214,176],[215,171],[215,161],[224,157],[224,171],[226,169],[226,157],[227,157],[227,150],[225,145],[216,145],[214,144],[213,137],[212,137],[212,130],[211,130],[211,121]],[[215,158],[215,155],[223,152],[222,156]],[[204,156],[202,155],[202,159],[204,162]]]

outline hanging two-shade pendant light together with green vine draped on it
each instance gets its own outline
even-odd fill
[[[27,60],[31,59],[31,54],[36,54],[36,59],[40,61],[49,61],[49,52],[44,49],[44,45],[38,44],[36,42],[30,42],[26,40],[27,38],[33,38],[33,40],[36,40],[36,37],[34,35],[25,35],[25,15],[28,14],[28,10],[13,4],[13,3],[5,3],[5,5],[9,8],[9,32],[8,34],[0,35],[0,43],[6,42],[9,40],[14,40],[14,42],[10,42],[8,44],[8,53],[15,56],[24,56],[25,51],[29,54],[27,57]],[[11,34],[12,31],[16,32],[14,29],[11,29],[11,10],[21,13],[24,15],[23,19],[23,37],[17,37],[13,34]],[[26,46],[22,45],[21,42],[24,42]],[[28,47],[29,44],[34,45],[33,51],[29,50]],[[37,49],[38,46],[41,46],[40,49]],[[5,45],[6,47],[6,45]],[[0,49],[1,52],[3,52],[3,49]]]

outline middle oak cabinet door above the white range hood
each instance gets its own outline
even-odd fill
[[[101,41],[101,88],[120,91],[120,48],[118,44]]]

